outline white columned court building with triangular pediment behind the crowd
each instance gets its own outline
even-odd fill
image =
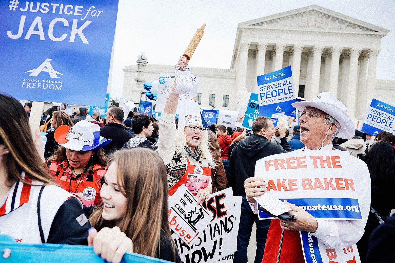
[[[230,69],[193,67],[202,108],[238,110],[247,92],[257,93],[256,76],[292,67],[296,95],[313,99],[330,91],[361,121],[368,99],[395,101],[395,80],[376,80],[380,40],[389,30],[320,6],[242,22],[237,26]],[[138,62],[138,61],[137,61]],[[144,80],[173,72],[173,65],[147,64]],[[137,65],[124,69],[123,96],[139,101]]]

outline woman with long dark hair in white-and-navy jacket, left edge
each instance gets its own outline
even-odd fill
[[[77,198],[48,174],[33,142],[21,103],[0,94],[0,233],[16,242],[87,244],[89,224],[77,221],[83,209]]]

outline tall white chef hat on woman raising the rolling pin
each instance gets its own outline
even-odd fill
[[[179,129],[184,128],[186,125],[203,126],[198,102],[192,99],[180,101],[177,107],[177,113]]]

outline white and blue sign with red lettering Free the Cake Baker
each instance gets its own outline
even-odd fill
[[[267,182],[269,194],[315,218],[362,220],[350,158],[346,151],[280,153],[258,160],[255,176]],[[258,215],[271,219],[261,211]]]

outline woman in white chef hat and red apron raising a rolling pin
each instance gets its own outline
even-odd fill
[[[183,69],[187,65],[188,60],[181,56],[175,68]],[[188,173],[207,182],[201,183],[197,191],[190,189],[199,204],[213,192],[211,168],[216,167],[216,162],[209,150],[209,134],[202,125],[199,104],[185,99],[178,105],[179,94],[172,93],[176,87],[175,80],[160,116],[158,152],[166,164],[170,195],[179,186],[186,185]],[[179,113],[178,131],[174,122],[176,109]]]

